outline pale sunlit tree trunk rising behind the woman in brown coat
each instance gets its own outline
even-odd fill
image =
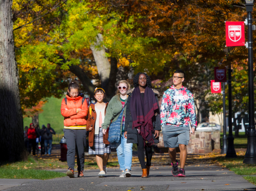
[[[97,34],[96,42],[90,46],[90,49],[92,50],[92,54],[97,66],[102,88],[107,89],[111,65],[106,57],[105,48],[101,46],[102,42],[102,34]]]

